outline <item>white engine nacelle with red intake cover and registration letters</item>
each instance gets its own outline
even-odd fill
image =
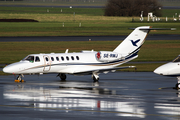
[[[110,62],[122,59],[122,55],[111,51],[99,51],[95,54],[96,59],[101,62]]]

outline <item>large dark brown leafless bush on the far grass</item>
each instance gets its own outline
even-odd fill
[[[147,16],[149,12],[160,17],[162,5],[158,0],[108,0],[105,6],[105,16]]]

